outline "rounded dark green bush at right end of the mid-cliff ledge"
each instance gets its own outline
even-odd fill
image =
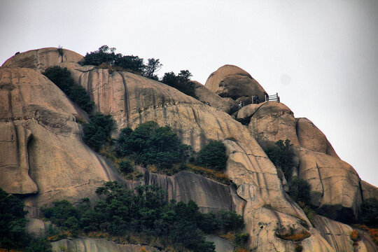
[[[210,141],[197,154],[197,165],[210,167],[218,171],[225,169],[226,162],[225,145],[221,141]]]

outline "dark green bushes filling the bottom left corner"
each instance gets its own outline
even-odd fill
[[[24,203],[0,188],[0,250],[50,252],[45,237],[34,238],[25,231],[27,219]]]

